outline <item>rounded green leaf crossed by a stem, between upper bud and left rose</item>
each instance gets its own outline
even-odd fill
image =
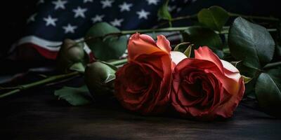
[[[121,57],[127,45],[126,36],[105,36],[106,34],[119,34],[120,30],[112,27],[106,22],[99,22],[87,31],[85,38],[94,38],[86,41],[93,55],[103,61],[118,59]]]

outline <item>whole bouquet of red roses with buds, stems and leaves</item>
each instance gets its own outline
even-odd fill
[[[83,41],[67,39],[61,45],[60,75],[13,90],[2,87],[0,91],[8,92],[0,98],[83,76],[86,85],[63,87],[55,96],[74,106],[115,97],[125,109],[143,115],[176,112],[197,120],[230,118],[241,101],[254,100],[260,110],[281,116],[281,41],[280,26],[275,26],[279,19],[237,15],[218,6],[171,18],[166,3],[158,16],[163,22],[156,29],[120,31],[96,23]],[[172,27],[177,20],[194,18],[200,25]],[[266,20],[270,28],[245,18]],[[163,25],[169,27],[160,28]],[[173,32],[183,43],[152,34],[157,32]]]

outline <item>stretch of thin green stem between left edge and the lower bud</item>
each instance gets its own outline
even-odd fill
[[[74,72],[71,72],[71,73],[66,73],[66,74],[60,74],[60,75],[57,75],[57,76],[51,76],[49,78],[45,78],[43,80],[39,80],[39,81],[36,81],[34,83],[28,83],[28,84],[25,84],[25,85],[20,85],[18,89],[16,90],[11,90],[10,92],[6,92],[4,94],[0,94],[0,98],[4,98],[4,97],[7,97],[11,94],[15,94],[15,93],[18,93],[22,90],[27,90],[27,89],[30,89],[31,87],[36,87],[36,86],[39,86],[39,85],[44,85],[46,83],[51,83],[53,81],[56,81],[56,80],[61,80],[61,79],[65,79],[65,78],[70,78],[72,76],[77,76],[81,73],[77,72],[77,71],[74,71]]]

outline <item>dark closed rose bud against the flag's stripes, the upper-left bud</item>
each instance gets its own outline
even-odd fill
[[[61,45],[57,57],[57,67],[60,71],[67,72],[73,64],[85,65],[89,59],[85,55],[83,43],[76,43],[71,39],[65,39]]]

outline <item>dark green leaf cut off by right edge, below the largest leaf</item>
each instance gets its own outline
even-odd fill
[[[275,77],[279,76],[279,77]],[[268,73],[261,73],[256,81],[256,99],[263,111],[281,117],[281,92],[280,92],[281,71],[271,70]]]

